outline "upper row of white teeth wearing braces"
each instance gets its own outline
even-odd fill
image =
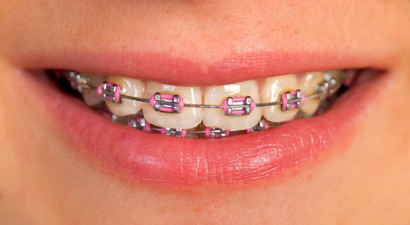
[[[161,84],[154,81],[142,81],[139,79],[132,79],[120,76],[104,76],[98,74],[84,74],[88,76],[89,84],[98,86],[107,81],[109,83],[118,84],[121,87],[122,95],[144,98],[146,101],[141,102],[122,98],[120,104],[106,101],[107,107],[110,111],[119,117],[133,115],[138,113],[141,109],[144,118],[150,124],[168,129],[190,129],[198,126],[202,120],[203,125],[212,129],[224,130],[247,130],[254,127],[260,122],[263,116],[270,122],[286,122],[293,120],[298,114],[299,109],[303,115],[314,115],[321,103],[320,98],[328,97],[329,95],[322,95],[320,98],[305,98],[300,92],[288,93],[287,107],[286,101],[283,101],[283,107],[289,110],[282,110],[282,105],[255,107],[255,103],[269,103],[280,102],[281,96],[285,92],[301,90],[304,96],[309,96],[316,93],[317,85],[329,81],[333,86],[327,88],[323,85],[325,92],[332,94],[337,91],[341,83],[346,78],[346,73],[340,70],[325,71],[325,72],[310,72],[301,74],[290,74],[284,76],[271,77],[263,80],[250,80],[229,85],[208,86],[208,87],[182,87],[167,84]],[[87,83],[83,76],[77,72],[63,72],[74,89],[82,92],[85,103],[89,106],[96,106],[103,100],[97,95],[101,95],[101,87],[96,91],[87,89]],[[76,78],[76,79],[73,79]],[[334,82],[333,79],[337,81]],[[332,82],[330,82],[330,80]],[[110,84],[111,85],[111,84]],[[118,90],[118,89],[116,89]],[[260,92],[259,92],[260,90]],[[202,95],[203,91],[203,95]],[[160,106],[158,108],[158,95],[160,93]],[[104,91],[103,96],[110,95]],[[155,97],[154,97],[155,95]],[[196,108],[183,107],[182,102],[179,105],[172,105],[170,103],[173,96],[179,95],[185,104],[205,104],[205,105],[219,105],[219,108]],[[295,103],[295,96],[298,95],[304,102],[298,107],[300,102]],[[115,92],[116,100],[119,101],[118,92]],[[250,98],[249,98],[249,97]],[[285,95],[283,95],[285,96]],[[229,98],[230,97],[230,98]],[[114,101],[114,100],[113,100]],[[153,107],[156,107],[155,111]],[[251,110],[250,110],[251,109]],[[166,113],[164,111],[173,111],[175,113]],[[181,110],[178,113],[178,110]],[[251,113],[249,113],[251,111]],[[246,115],[250,114],[250,115]]]

